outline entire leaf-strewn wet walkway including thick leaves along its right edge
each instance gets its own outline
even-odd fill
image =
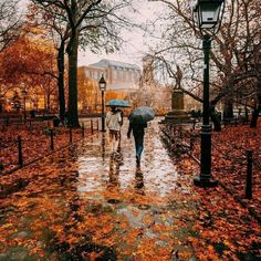
[[[124,132],[121,159],[98,133],[0,178],[27,185],[0,199],[0,260],[261,258],[258,221],[222,187],[196,188],[198,166],[168,156],[157,123],[142,169]]]

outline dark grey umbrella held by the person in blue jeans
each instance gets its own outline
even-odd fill
[[[136,107],[129,114],[128,119],[134,124],[145,124],[155,118],[155,112],[152,107]]]

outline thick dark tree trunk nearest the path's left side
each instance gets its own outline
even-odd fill
[[[77,48],[79,32],[71,39],[69,49],[69,125],[80,127],[77,115]]]

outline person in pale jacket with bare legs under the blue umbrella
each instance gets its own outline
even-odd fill
[[[122,127],[122,115],[121,115],[121,112],[118,112],[116,107],[112,107],[112,111],[107,113],[106,126],[109,132],[112,154],[115,154],[118,148],[119,132]]]

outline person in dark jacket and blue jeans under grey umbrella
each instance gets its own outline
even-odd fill
[[[140,167],[140,157],[144,148],[144,135],[147,123],[132,123],[129,121],[127,137],[130,138],[130,133],[133,132],[136,149],[136,165]]]

